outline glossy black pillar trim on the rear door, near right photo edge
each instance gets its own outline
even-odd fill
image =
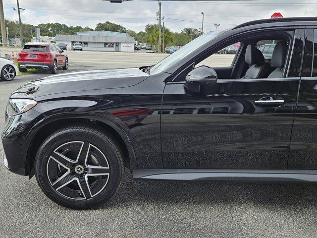
[[[312,76],[314,30],[305,30],[305,46],[301,77]]]

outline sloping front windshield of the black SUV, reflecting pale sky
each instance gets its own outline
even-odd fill
[[[158,73],[166,70],[171,65],[175,64],[177,61],[184,59],[186,56],[191,54],[197,48],[201,47],[202,45],[206,44],[213,38],[221,35],[224,31],[211,31],[200,37],[196,38],[195,40],[189,42],[187,45],[180,48],[178,51],[173,53],[172,55],[166,57],[165,59],[159,61],[156,65],[151,68],[151,73]]]

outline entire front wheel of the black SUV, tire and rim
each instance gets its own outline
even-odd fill
[[[118,189],[123,173],[117,142],[98,128],[84,125],[65,127],[51,134],[35,158],[35,176],[43,192],[53,202],[73,209],[106,202]]]

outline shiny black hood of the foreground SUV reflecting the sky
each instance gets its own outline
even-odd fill
[[[138,84],[149,76],[139,68],[63,73],[26,83],[15,90],[10,98],[36,98],[57,93],[124,88]]]

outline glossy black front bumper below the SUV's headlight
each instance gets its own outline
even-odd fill
[[[43,118],[43,114],[33,109],[13,117],[9,117],[6,112],[6,126],[1,139],[4,149],[3,164],[9,171],[19,175],[28,175],[27,152],[32,140],[30,132],[34,124]]]

